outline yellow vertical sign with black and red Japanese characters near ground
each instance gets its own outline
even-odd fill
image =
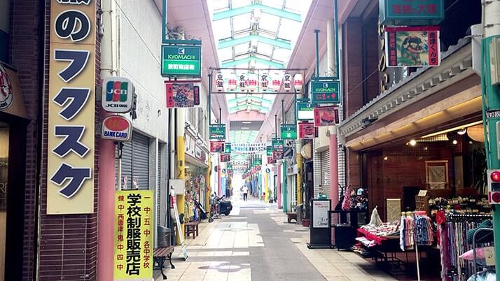
[[[153,190],[115,192],[115,280],[153,278]]]

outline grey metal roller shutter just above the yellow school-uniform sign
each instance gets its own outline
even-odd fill
[[[132,177],[137,178],[139,189],[149,189],[149,138],[132,134]]]

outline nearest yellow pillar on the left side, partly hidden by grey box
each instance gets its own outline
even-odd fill
[[[186,178],[186,143],[184,142],[184,131],[185,131],[185,109],[184,108],[176,108],[177,112],[177,136],[176,136],[176,148],[177,148],[177,164],[176,164],[176,177],[179,180],[183,180]],[[176,204],[177,210],[179,210],[179,215],[184,214],[186,212],[184,205],[186,203],[186,194],[176,194]],[[184,217],[186,219],[186,217]],[[179,228],[179,232],[184,235],[184,224],[181,224]],[[179,235],[177,237],[177,244],[181,243]]]

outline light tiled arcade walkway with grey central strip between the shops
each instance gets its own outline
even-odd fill
[[[307,229],[286,223],[275,205],[232,201],[228,217],[202,222],[200,236],[186,240],[189,258],[173,261],[168,280],[396,280],[352,252],[307,249]]]

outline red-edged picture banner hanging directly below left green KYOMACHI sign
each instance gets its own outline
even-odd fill
[[[200,106],[200,85],[193,82],[165,82],[167,108]]]

